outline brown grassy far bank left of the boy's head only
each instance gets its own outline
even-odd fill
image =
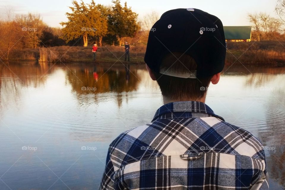
[[[144,63],[145,45],[131,47],[130,60],[132,63]],[[92,47],[82,46],[56,46],[39,49],[20,49],[11,53],[10,61],[37,61],[47,62],[94,62]],[[119,59],[119,60],[118,60]],[[105,46],[98,47],[97,62],[124,61],[124,47]]]

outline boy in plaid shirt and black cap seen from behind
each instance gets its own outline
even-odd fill
[[[225,62],[219,18],[175,9],[153,28],[145,62],[164,105],[111,143],[100,189],[268,189],[262,144],[205,104]]]

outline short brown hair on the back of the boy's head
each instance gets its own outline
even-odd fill
[[[177,60],[178,58],[179,60]],[[165,56],[160,68],[163,67],[166,69],[169,68],[171,71],[182,73],[187,69],[191,72],[197,70],[195,60],[191,56],[179,52]],[[179,78],[155,72],[154,76],[156,77],[162,95],[170,100],[179,101],[202,98],[212,78],[212,76],[206,78]]]

